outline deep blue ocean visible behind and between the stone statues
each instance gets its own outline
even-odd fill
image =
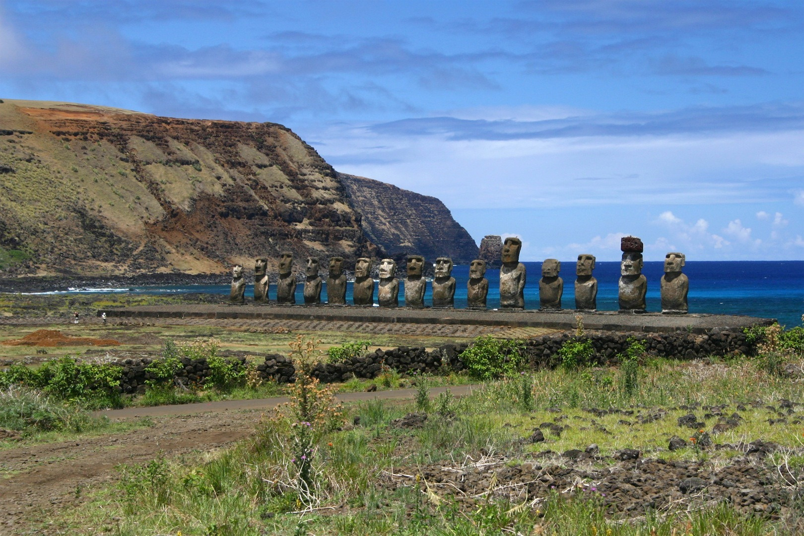
[[[527,267],[525,308],[539,309],[539,277],[541,263],[524,263]],[[574,281],[575,262],[562,262],[561,276],[564,279],[562,305],[575,307]],[[648,280],[647,309],[660,311],[659,280],[663,263],[646,262],[642,273]],[[788,328],[802,324],[804,314],[804,260],[793,261],[687,261],[684,273],[690,280],[690,313],[743,314],[753,317],[777,318]],[[455,307],[466,307],[466,283],[469,267],[453,268],[456,280]],[[597,309],[615,311],[617,305],[617,280],[620,277],[619,262],[597,262],[594,271],[597,278]],[[489,280],[489,309],[499,304],[499,271],[486,271]],[[297,286],[296,301],[304,303],[303,285]],[[134,292],[134,293],[218,293],[228,294],[228,285],[143,286],[129,288],[92,288],[71,292]],[[271,285],[270,297],[276,298],[277,289]],[[425,303],[431,301],[432,288],[428,285]],[[252,297],[249,285],[247,297]],[[322,292],[326,299],[326,284]],[[347,285],[347,302],[351,303],[351,284]],[[400,305],[404,305],[404,288],[400,288]]]

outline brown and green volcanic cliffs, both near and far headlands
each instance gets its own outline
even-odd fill
[[[406,199],[393,214],[388,192]],[[219,273],[286,250],[477,247],[437,199],[338,174],[282,125],[0,101],[0,272]]]

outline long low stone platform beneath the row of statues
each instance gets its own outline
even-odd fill
[[[340,321],[407,325],[476,325],[511,328],[575,329],[576,311],[476,311],[468,309],[381,309],[335,305],[142,305],[101,309],[109,319]],[[715,328],[741,329],[770,325],[773,319],[720,314],[623,314],[616,311],[583,313],[585,329],[641,331],[646,333],[708,333]]]

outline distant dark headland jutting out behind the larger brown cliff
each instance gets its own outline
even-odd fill
[[[349,202],[363,215],[363,231],[388,256],[425,256],[428,264],[437,257],[452,257],[468,264],[478,255],[478,246],[457,223],[440,200],[402,190],[392,184],[355,175],[338,174]]]

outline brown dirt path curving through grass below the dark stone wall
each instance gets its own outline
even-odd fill
[[[449,389],[464,395],[477,387]],[[435,387],[430,396],[445,390]],[[347,393],[338,399],[412,399],[415,393],[414,389]],[[150,417],[155,424],[113,435],[0,450],[0,534],[30,530],[29,520],[79,504],[84,500],[83,489],[117,477],[117,464],[152,460],[160,452],[172,458],[194,450],[211,451],[243,439],[265,410],[285,402],[277,397],[99,411],[109,419]]]

